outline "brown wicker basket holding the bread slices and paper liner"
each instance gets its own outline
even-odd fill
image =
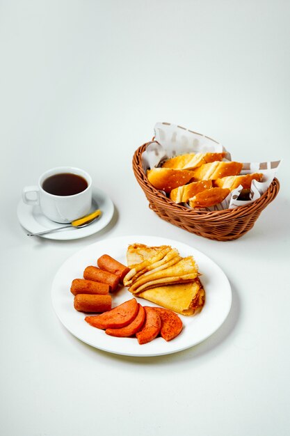
[[[279,192],[279,181],[274,178],[268,190],[248,205],[214,212],[188,209],[171,201],[148,182],[141,160],[146,146],[147,143],[136,150],[132,163],[135,177],[150,203],[150,208],[162,219],[195,235],[217,241],[241,238],[254,226],[261,211]]]

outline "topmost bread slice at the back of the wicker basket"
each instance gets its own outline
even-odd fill
[[[178,155],[166,160],[161,165],[162,168],[172,169],[195,169],[208,162],[220,161],[226,153],[187,153]]]

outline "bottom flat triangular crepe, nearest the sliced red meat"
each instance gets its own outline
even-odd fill
[[[181,315],[191,316],[198,313],[204,305],[205,293],[200,279],[191,283],[159,286],[144,290],[138,297],[159,304]]]

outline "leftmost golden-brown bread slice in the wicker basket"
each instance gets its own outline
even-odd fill
[[[166,193],[186,185],[193,177],[194,171],[187,169],[152,168],[147,170],[147,178],[151,185]]]

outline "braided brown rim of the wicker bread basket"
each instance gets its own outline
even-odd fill
[[[151,142],[151,141],[150,141]],[[213,219],[215,222],[217,219],[220,219],[220,221],[225,221],[225,218],[237,218],[237,217],[243,217],[245,215],[249,215],[251,212],[254,212],[255,210],[261,208],[264,209],[268,203],[273,201],[275,196],[277,195],[277,192],[280,189],[280,183],[277,178],[274,178],[270,187],[268,187],[267,191],[264,192],[257,200],[252,201],[252,203],[248,203],[245,205],[238,206],[234,209],[224,209],[224,210],[194,210],[190,208],[186,208],[186,206],[177,204],[174,201],[170,200],[167,196],[162,194],[158,189],[156,189],[154,186],[150,184],[150,182],[147,180],[147,176],[145,172],[143,171],[142,161],[141,161],[141,155],[145,151],[148,143],[144,143],[142,146],[138,147],[137,150],[134,153],[133,157],[133,169],[136,176],[136,179],[138,180],[139,185],[142,187],[143,191],[147,196],[152,196],[152,202],[153,203],[159,203],[162,207],[166,206],[167,208],[170,208],[171,210],[175,210],[179,214],[183,215],[184,218],[191,217],[195,219],[206,219],[207,222],[209,220]],[[272,195],[271,195],[271,192]]]

